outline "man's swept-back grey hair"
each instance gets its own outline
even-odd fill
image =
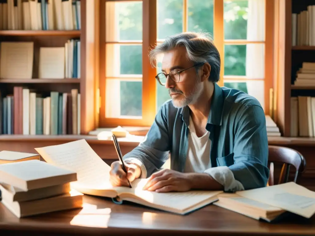
[[[186,48],[187,58],[190,61],[196,64],[209,63],[211,66],[209,81],[218,82],[220,80],[220,53],[207,33],[185,32],[166,38],[162,44],[150,51],[151,65],[156,67],[158,54],[180,46]]]

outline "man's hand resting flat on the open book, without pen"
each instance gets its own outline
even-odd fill
[[[152,174],[143,190],[165,192],[186,192],[192,188],[189,174],[163,169]]]

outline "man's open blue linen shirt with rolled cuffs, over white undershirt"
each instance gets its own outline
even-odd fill
[[[171,100],[164,103],[144,140],[124,155],[124,161],[139,165],[141,177],[146,178],[158,171],[170,154],[171,169],[184,172],[189,115],[188,106],[176,108]],[[206,129],[210,133],[212,168],[205,172],[219,183],[231,186],[231,176],[225,181],[222,179],[226,177],[218,176],[218,171],[228,175],[228,169],[239,186],[224,186],[225,191],[266,186],[269,177],[266,117],[256,98],[215,84]],[[211,174],[211,169],[216,171]]]

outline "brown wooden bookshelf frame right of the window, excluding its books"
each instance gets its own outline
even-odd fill
[[[315,151],[314,137],[296,137],[291,135],[291,97],[315,97],[314,85],[294,85],[296,72],[303,62],[315,62],[315,44],[297,43],[292,38],[292,13],[307,10],[307,6],[315,5],[314,0],[276,0],[274,21],[274,105],[273,118],[282,136],[275,145],[293,148],[301,152],[306,159],[306,170],[302,175],[302,185],[315,187]],[[315,11],[314,11],[315,14]],[[315,24],[314,31],[315,35]],[[315,38],[314,38],[315,39]],[[293,120],[293,119],[292,119]]]

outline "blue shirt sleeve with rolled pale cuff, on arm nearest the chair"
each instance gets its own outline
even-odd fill
[[[205,172],[225,191],[265,187],[269,177],[266,117],[260,106],[250,105],[241,113],[235,128],[234,164]]]

